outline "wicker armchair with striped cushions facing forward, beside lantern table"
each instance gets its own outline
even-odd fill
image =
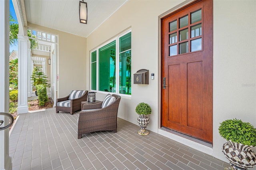
[[[59,111],[69,112],[73,115],[75,111],[81,109],[81,102],[87,101],[88,91],[72,90],[70,95],[57,99],[56,113]]]

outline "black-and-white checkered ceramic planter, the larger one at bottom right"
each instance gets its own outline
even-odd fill
[[[251,150],[253,147],[228,140],[223,144],[222,152],[234,170],[246,170],[256,164],[256,156]]]

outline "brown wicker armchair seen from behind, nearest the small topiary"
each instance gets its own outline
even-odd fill
[[[114,94],[112,96],[115,97],[116,100],[104,108],[102,108],[102,103],[104,103],[105,100],[100,103],[83,106],[83,110],[79,113],[78,117],[78,139],[82,138],[82,134],[89,132],[103,130],[113,130],[113,132],[116,132],[117,112],[121,97]]]

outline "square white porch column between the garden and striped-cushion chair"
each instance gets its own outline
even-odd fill
[[[17,113],[28,113],[28,36],[18,35],[18,108]],[[29,77],[30,78],[30,77]]]

